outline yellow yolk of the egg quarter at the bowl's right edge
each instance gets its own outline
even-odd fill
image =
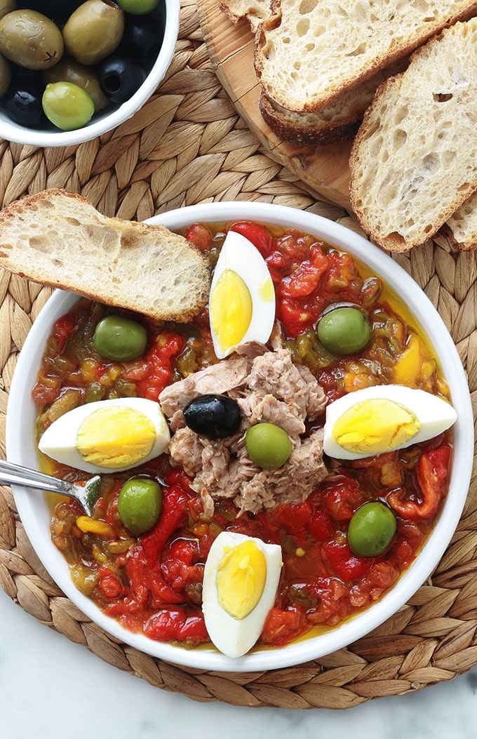
[[[334,423],[333,438],[349,452],[382,454],[412,439],[419,418],[405,406],[374,398],[351,406]]]

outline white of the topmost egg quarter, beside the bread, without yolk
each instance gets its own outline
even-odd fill
[[[214,290],[225,270],[232,270],[238,274],[247,285],[252,300],[252,317],[240,343],[225,348],[220,346],[212,324],[210,325],[213,348],[219,359],[223,359],[249,341],[266,344],[275,321],[275,289],[267,264],[252,242],[236,231],[228,231],[213,271],[209,310]]]

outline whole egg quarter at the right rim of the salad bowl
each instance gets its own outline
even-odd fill
[[[337,459],[372,457],[432,439],[456,419],[450,403],[425,390],[366,387],[326,407],[323,450]]]

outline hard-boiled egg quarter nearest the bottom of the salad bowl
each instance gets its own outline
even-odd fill
[[[202,610],[210,641],[229,657],[255,644],[275,602],[281,547],[222,531],[205,562]]]

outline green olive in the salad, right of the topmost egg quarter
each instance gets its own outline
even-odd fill
[[[368,344],[371,326],[359,308],[340,307],[329,310],[318,321],[317,335],[332,354],[354,354]]]

